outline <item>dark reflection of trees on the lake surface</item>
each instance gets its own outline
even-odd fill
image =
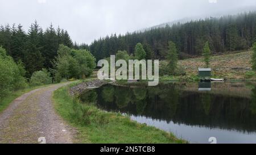
[[[196,90],[197,88],[195,88]],[[256,131],[256,87],[251,98],[183,89],[168,84],[155,87],[105,85],[81,95],[107,111],[198,127]]]

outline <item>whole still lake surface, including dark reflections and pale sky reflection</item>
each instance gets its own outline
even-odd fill
[[[105,85],[81,95],[189,143],[256,143],[256,83]]]

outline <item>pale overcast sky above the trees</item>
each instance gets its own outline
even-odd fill
[[[43,29],[52,23],[67,30],[73,41],[90,44],[111,33],[255,6],[255,0],[0,0],[0,24],[20,23],[27,31],[35,20]]]

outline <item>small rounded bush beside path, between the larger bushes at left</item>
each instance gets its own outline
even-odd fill
[[[47,85],[51,83],[51,74],[46,69],[34,72],[30,78],[31,86]]]

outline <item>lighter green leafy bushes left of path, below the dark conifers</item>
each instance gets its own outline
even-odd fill
[[[52,61],[52,68],[40,68],[26,78],[26,69],[21,60],[7,55],[0,47],[0,99],[14,90],[28,86],[47,85],[56,82],[67,82],[67,79],[89,77],[96,68],[96,59],[85,49],[72,49],[63,44],[57,49],[57,56]]]

